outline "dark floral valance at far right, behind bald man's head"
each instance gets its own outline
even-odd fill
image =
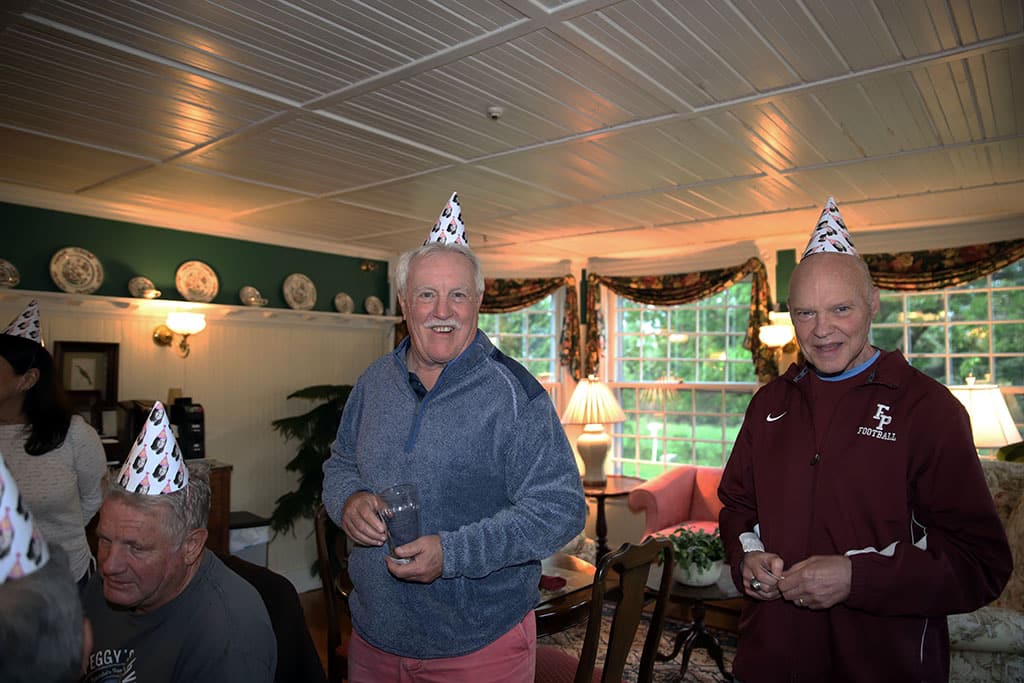
[[[886,290],[940,290],[995,272],[1024,258],[1024,240],[953,249],[865,254],[874,284]]]

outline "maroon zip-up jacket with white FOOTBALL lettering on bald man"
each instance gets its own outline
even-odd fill
[[[1013,568],[967,412],[883,352],[818,438],[810,372],[791,367],[751,400],[719,523],[740,589],[739,535],[759,524],[785,566],[849,555],[850,595],[820,611],[748,599],[733,671],[744,683],[946,681],[946,615],[993,600]]]

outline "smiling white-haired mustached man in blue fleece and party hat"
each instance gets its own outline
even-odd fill
[[[324,504],[356,544],[349,680],[534,680],[540,560],[584,525],[547,392],[477,330],[479,261],[457,196],[404,254],[410,336],[359,378],[324,465]],[[385,550],[374,492],[414,483],[423,536]]]

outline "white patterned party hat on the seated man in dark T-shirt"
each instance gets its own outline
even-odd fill
[[[159,400],[121,466],[118,483],[130,494],[143,496],[173,494],[188,483],[188,468]]]

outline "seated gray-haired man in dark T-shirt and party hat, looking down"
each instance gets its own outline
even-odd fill
[[[276,641],[256,590],[205,548],[210,479],[186,467],[157,402],[99,510],[83,603],[85,683],[269,683]]]

